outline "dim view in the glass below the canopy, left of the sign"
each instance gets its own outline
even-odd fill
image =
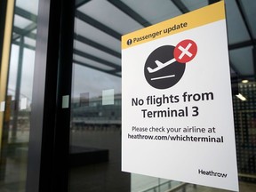
[[[129,174],[120,172],[121,79],[73,66],[70,191],[129,191]]]

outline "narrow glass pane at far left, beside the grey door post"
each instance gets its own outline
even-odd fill
[[[10,62],[7,64],[8,71],[1,71],[1,75],[5,73],[8,76],[6,89],[4,92],[1,90],[1,95],[5,95],[4,110],[1,112],[4,122],[0,124],[0,191],[3,192],[23,192],[26,188],[36,47],[34,16],[37,14],[38,0],[17,0],[14,6]],[[34,28],[30,28],[32,25]],[[29,36],[32,31],[34,36]],[[3,84],[2,81],[1,86]]]

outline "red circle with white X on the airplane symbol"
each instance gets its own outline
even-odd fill
[[[174,58],[180,63],[187,63],[196,56],[197,45],[194,41],[186,39],[176,45],[174,49]]]

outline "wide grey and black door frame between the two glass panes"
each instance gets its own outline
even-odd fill
[[[68,192],[75,0],[40,0],[28,144],[27,192]],[[67,97],[70,102],[70,97]]]

